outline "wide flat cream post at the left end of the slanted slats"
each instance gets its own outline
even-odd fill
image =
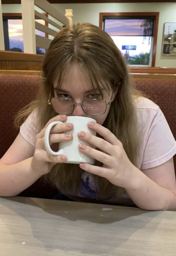
[[[21,0],[24,53],[36,54],[34,0]]]

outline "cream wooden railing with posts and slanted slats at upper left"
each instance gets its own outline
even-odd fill
[[[36,6],[36,7],[35,7]],[[35,10],[39,7],[42,10]],[[72,24],[73,10],[61,13],[47,0],[21,0],[24,53],[36,54],[36,47],[48,49],[49,44],[60,29]],[[50,15],[48,17],[48,15]],[[35,17],[45,21],[45,25],[35,21]],[[54,19],[54,21],[53,21]],[[50,27],[49,27],[50,26]],[[51,28],[52,27],[52,28]],[[35,34],[35,29],[45,33],[45,37]],[[49,35],[49,37],[48,37]],[[0,50],[4,50],[2,10],[0,1]],[[8,66],[8,65],[7,65]]]

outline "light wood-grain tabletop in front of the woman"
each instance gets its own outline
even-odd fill
[[[176,212],[0,198],[0,256],[176,256]]]

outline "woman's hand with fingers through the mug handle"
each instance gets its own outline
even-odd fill
[[[67,156],[63,156],[63,155],[51,156],[45,150],[45,144],[44,144],[44,135],[45,135],[45,130],[47,126],[53,121],[65,122],[66,120],[67,120],[66,115],[55,116],[54,118],[48,121],[45,127],[36,136],[35,152],[34,152],[32,163],[31,163],[31,168],[35,172],[38,172],[41,175],[47,174],[56,163],[63,163],[67,160]],[[73,129],[73,124],[65,124],[65,123],[58,124],[52,127],[49,135],[50,145],[53,143],[58,144],[60,141],[72,140],[73,139],[72,135],[68,137],[68,134],[64,134],[64,132],[70,131],[72,129]]]

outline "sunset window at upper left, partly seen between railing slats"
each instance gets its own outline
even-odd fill
[[[45,21],[36,17],[35,21],[46,25]],[[3,13],[4,45],[6,51],[23,52],[23,25],[21,13]],[[42,31],[35,29],[36,35],[48,37]],[[45,54],[45,49],[36,48],[36,54]]]

